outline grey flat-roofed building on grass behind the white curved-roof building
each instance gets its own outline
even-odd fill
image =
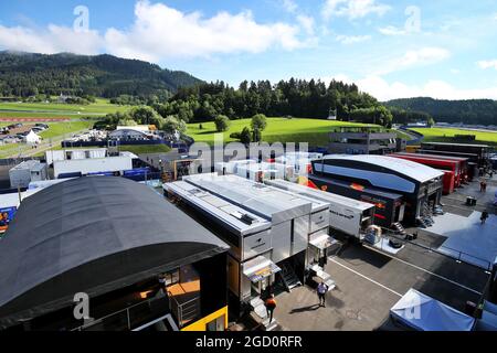
[[[346,154],[387,154],[405,148],[395,132],[379,132],[370,128],[341,128],[329,133],[328,151]]]

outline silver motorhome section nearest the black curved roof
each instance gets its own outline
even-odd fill
[[[192,208],[201,221],[211,225],[218,237],[230,245],[228,287],[233,303],[231,309],[236,310],[241,301],[260,296],[267,284],[274,282],[281,268],[271,260],[269,221],[184,181],[167,183],[162,188],[167,196]],[[216,226],[212,226],[212,222]],[[254,267],[255,263],[258,266]]]

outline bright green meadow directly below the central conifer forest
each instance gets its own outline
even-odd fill
[[[223,133],[223,141],[231,142],[236,139],[230,138],[232,132],[241,132],[244,127],[250,127],[251,119],[231,120],[230,129]],[[298,119],[298,118],[267,118],[267,127],[262,137],[266,142],[308,142],[309,146],[327,146],[329,142],[328,132],[334,128],[350,126],[363,127],[367,125],[347,121],[331,121],[322,119]],[[189,124],[187,135],[197,142],[214,142],[215,126],[214,122],[202,122],[202,129],[199,124]]]

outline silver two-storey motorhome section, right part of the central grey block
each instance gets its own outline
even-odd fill
[[[271,260],[283,269],[282,278],[288,289],[295,284],[295,279],[304,280],[309,238],[328,239],[329,205],[326,202],[237,175],[197,174],[183,180],[271,221]],[[326,274],[321,275],[324,279],[328,279]]]

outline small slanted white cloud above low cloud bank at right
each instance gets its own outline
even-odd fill
[[[384,75],[411,67],[436,64],[451,57],[451,52],[443,47],[426,46],[405,52],[404,55],[384,63],[376,71],[377,75]]]

